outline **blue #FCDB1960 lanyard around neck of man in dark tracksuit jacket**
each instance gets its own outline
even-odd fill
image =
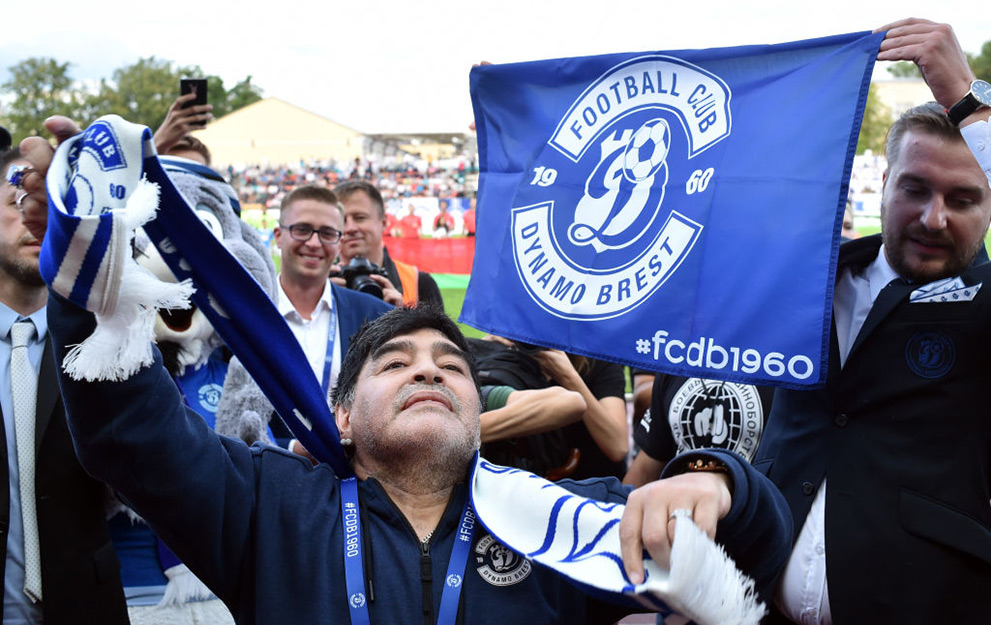
[[[358,509],[358,480],[349,477],[341,480],[341,514],[344,520],[344,578],[348,594],[348,609],[351,611],[351,625],[370,625],[368,601],[365,598],[365,565],[361,559],[361,520]],[[440,598],[437,625],[454,625],[458,618],[458,603],[461,601],[461,585],[464,583],[468,554],[475,535],[475,511],[471,509],[471,498],[465,497],[465,507],[461,511],[451,560],[444,576],[444,591]]]

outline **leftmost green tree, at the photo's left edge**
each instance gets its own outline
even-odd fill
[[[44,134],[44,121],[51,115],[78,115],[82,97],[73,88],[69,65],[33,57],[8,68],[11,78],[3,89],[14,99],[5,107],[4,117],[15,145],[25,137]]]

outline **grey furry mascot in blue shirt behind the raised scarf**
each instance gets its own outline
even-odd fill
[[[241,221],[241,207],[234,189],[205,165],[178,157],[159,159],[200,219],[274,297],[276,276],[271,255],[254,228]],[[141,231],[135,237],[134,253],[138,264],[157,278],[176,282],[158,250]],[[216,427],[217,406],[230,354],[206,316],[195,304],[188,309],[160,310],[155,319],[155,341],[186,403],[210,427]],[[264,436],[263,426],[261,437]],[[234,622],[223,603],[116,497],[111,500],[110,514],[133,625]]]

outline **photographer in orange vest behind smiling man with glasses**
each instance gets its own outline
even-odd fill
[[[403,304],[411,306],[422,301],[443,305],[444,300],[433,277],[414,265],[391,258],[389,250],[382,244],[387,221],[385,204],[378,189],[364,180],[349,180],[337,185],[334,192],[344,206],[341,264],[346,265],[359,256],[367,258],[388,274],[387,281],[382,276],[372,276],[373,279],[398,290]],[[420,218],[416,220],[419,223]]]

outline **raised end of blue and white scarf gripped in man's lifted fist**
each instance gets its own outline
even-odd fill
[[[150,364],[157,309],[181,308],[192,293],[299,441],[338,475],[350,475],[299,343],[271,299],[172,184],[150,130],[101,117],[59,147],[47,184],[42,277],[97,318],[96,332],[64,363],[69,375],[120,380]],[[142,225],[179,285],[159,281],[131,258],[129,243]]]

